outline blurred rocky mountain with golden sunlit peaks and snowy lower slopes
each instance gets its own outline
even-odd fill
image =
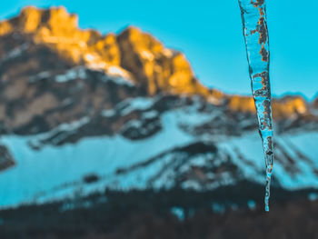
[[[208,89],[185,56],[64,8],[0,23],[0,206],[113,189],[263,184],[253,100]],[[318,99],[273,100],[273,184],[318,187]]]

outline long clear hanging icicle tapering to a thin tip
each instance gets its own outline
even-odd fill
[[[249,74],[266,165],[265,211],[269,211],[273,172],[273,119],[269,78],[270,51],[265,0],[239,0]]]

